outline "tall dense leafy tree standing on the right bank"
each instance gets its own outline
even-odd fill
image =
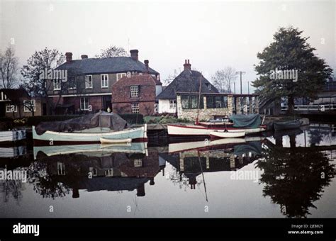
[[[274,34],[274,42],[258,52],[260,62],[254,66],[259,74],[253,82],[257,94],[265,99],[287,96],[289,113],[293,113],[295,98],[316,99],[325,80],[332,74],[325,60],[314,54],[316,49],[307,43],[309,38],[302,37],[301,33],[303,31],[298,28],[279,28]],[[271,72],[276,69],[298,70],[298,78],[296,81],[271,78]]]

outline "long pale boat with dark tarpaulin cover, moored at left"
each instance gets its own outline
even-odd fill
[[[147,141],[147,125],[129,128],[120,116],[101,111],[80,118],[33,126],[34,144],[48,142],[48,145],[67,145],[101,143],[101,138],[120,142],[120,140]]]

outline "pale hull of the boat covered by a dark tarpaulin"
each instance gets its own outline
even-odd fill
[[[37,141],[52,141],[52,145],[62,145],[63,142],[72,142],[73,144],[83,143],[100,143],[101,138],[106,140],[135,140],[135,141],[147,141],[147,125],[140,128],[127,128],[120,131],[101,131],[101,128],[88,129],[81,132],[56,132],[47,130],[42,135],[38,135],[33,126],[33,140]],[[119,141],[117,141],[119,142]]]

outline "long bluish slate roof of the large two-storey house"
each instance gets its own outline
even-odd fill
[[[145,72],[145,64],[133,60],[131,57],[103,57],[86,58],[84,60],[72,60],[65,62],[56,69],[75,69],[80,74],[107,74],[121,72]],[[149,68],[150,74],[159,74],[154,69]]]

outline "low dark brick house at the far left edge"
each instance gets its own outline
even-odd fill
[[[0,116],[9,118],[43,116],[47,111],[43,99],[30,98],[25,89],[0,89],[0,110]]]

